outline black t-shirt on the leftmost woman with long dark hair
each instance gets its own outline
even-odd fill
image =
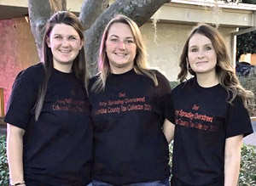
[[[90,103],[73,73],[52,70],[44,106],[35,121],[34,104],[44,67],[34,65],[16,78],[5,121],[25,129],[26,185],[82,186],[90,183],[92,125]]]

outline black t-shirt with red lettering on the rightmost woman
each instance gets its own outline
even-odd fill
[[[225,139],[253,132],[241,98],[227,103],[220,84],[200,87],[196,78],[172,91],[167,118],[175,123],[173,186],[224,185]]]

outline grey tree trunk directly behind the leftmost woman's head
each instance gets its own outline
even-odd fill
[[[38,57],[43,61],[43,37],[44,25],[51,14],[59,10],[67,9],[66,0],[28,0],[28,13],[31,25],[32,34],[35,38],[36,46],[38,48]]]

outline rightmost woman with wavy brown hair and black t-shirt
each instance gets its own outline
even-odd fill
[[[242,138],[253,132],[245,90],[220,33],[199,24],[180,57],[181,82],[172,91],[167,118],[175,125],[172,185],[236,185]],[[186,80],[188,73],[194,77]],[[175,127],[174,127],[175,126]]]

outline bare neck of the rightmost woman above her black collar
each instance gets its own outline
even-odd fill
[[[218,76],[216,73],[209,76],[209,74],[196,74],[196,80],[201,87],[213,87],[218,85]]]

